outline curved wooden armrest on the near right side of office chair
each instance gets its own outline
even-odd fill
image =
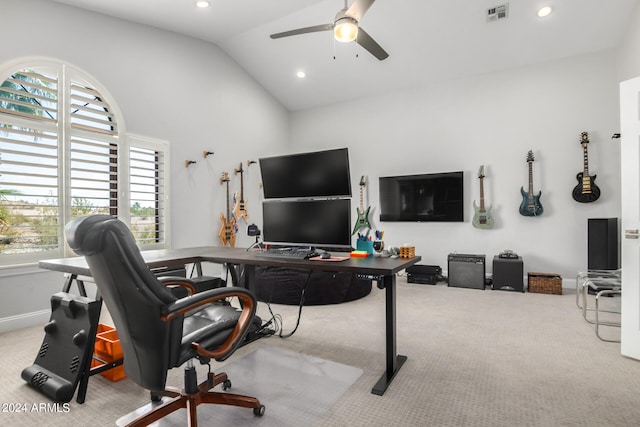
[[[247,330],[251,325],[251,321],[256,314],[256,298],[249,290],[232,286],[211,289],[209,291],[181,298],[174,303],[167,305],[165,310],[163,310],[161,318],[163,321],[171,321],[178,315],[185,315],[198,307],[226,298],[238,298],[242,306],[242,312],[240,313],[238,323],[234,326],[227,340],[219,345],[215,350],[208,350],[197,342],[191,343],[191,347],[199,354],[215,360],[224,360],[235,351],[240,342],[244,339]]]

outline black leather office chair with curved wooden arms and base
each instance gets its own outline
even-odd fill
[[[164,400],[128,425],[146,426],[186,408],[189,425],[196,426],[200,403],[253,408],[255,415],[264,414],[264,405],[254,397],[209,391],[218,384],[224,390],[231,387],[227,374],[214,375],[210,366],[207,380],[197,384],[193,366],[194,358],[209,364],[210,359],[225,360],[238,348],[256,318],[251,292],[223,287],[176,298],[149,271],[127,226],[108,215],[69,222],[65,237],[71,249],[85,257],[109,309],[122,345],[125,373],[150,390],[153,401]],[[184,278],[168,283],[191,286]],[[228,298],[238,298],[242,309],[232,307]],[[168,370],[185,362],[184,391],[167,388]]]

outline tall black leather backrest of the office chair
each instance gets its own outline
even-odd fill
[[[161,320],[176,300],[147,267],[129,228],[109,215],[75,219],[65,227],[70,248],[83,255],[113,319],[128,377],[159,391],[177,358],[183,318]]]

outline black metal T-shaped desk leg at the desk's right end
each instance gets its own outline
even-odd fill
[[[371,390],[371,393],[382,396],[396,376],[407,356],[396,354],[396,276],[382,278],[386,292],[386,371]]]

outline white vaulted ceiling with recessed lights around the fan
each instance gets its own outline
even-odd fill
[[[640,2],[377,0],[360,25],[389,53],[378,61],[330,32],[269,38],[332,23],[343,0],[50,1],[215,43],[292,111],[612,48]],[[487,9],[505,3],[509,17],[488,23]],[[543,5],[554,11],[538,18]]]

